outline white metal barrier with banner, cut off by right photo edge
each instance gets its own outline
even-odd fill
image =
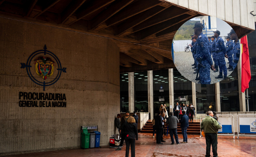
[[[241,117],[241,116],[254,116],[254,117]],[[239,120],[239,125],[238,125],[238,120]],[[239,139],[239,136],[256,136],[256,114],[238,114],[237,115],[237,139]]]

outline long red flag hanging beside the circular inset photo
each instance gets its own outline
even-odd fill
[[[242,79],[241,79],[241,90],[242,92],[245,89],[249,88],[249,82],[251,80],[251,70],[250,70],[250,59],[249,59],[249,50],[247,36],[241,38],[242,44]]]

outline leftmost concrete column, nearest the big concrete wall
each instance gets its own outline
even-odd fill
[[[129,111],[134,111],[134,73],[128,73]],[[125,111],[124,111],[125,112]]]

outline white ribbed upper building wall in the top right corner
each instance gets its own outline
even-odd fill
[[[164,1],[164,0],[163,0]],[[215,16],[242,27],[255,30],[255,0],[165,0],[184,8],[195,10],[205,15]],[[230,14],[229,14],[230,13]],[[253,12],[254,13],[254,12]],[[254,13],[256,14],[256,13]]]

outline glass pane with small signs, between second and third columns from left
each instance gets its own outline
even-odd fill
[[[153,71],[154,115],[159,111],[161,104],[170,109],[169,101],[169,71],[168,69]],[[168,112],[170,112],[168,110]]]

